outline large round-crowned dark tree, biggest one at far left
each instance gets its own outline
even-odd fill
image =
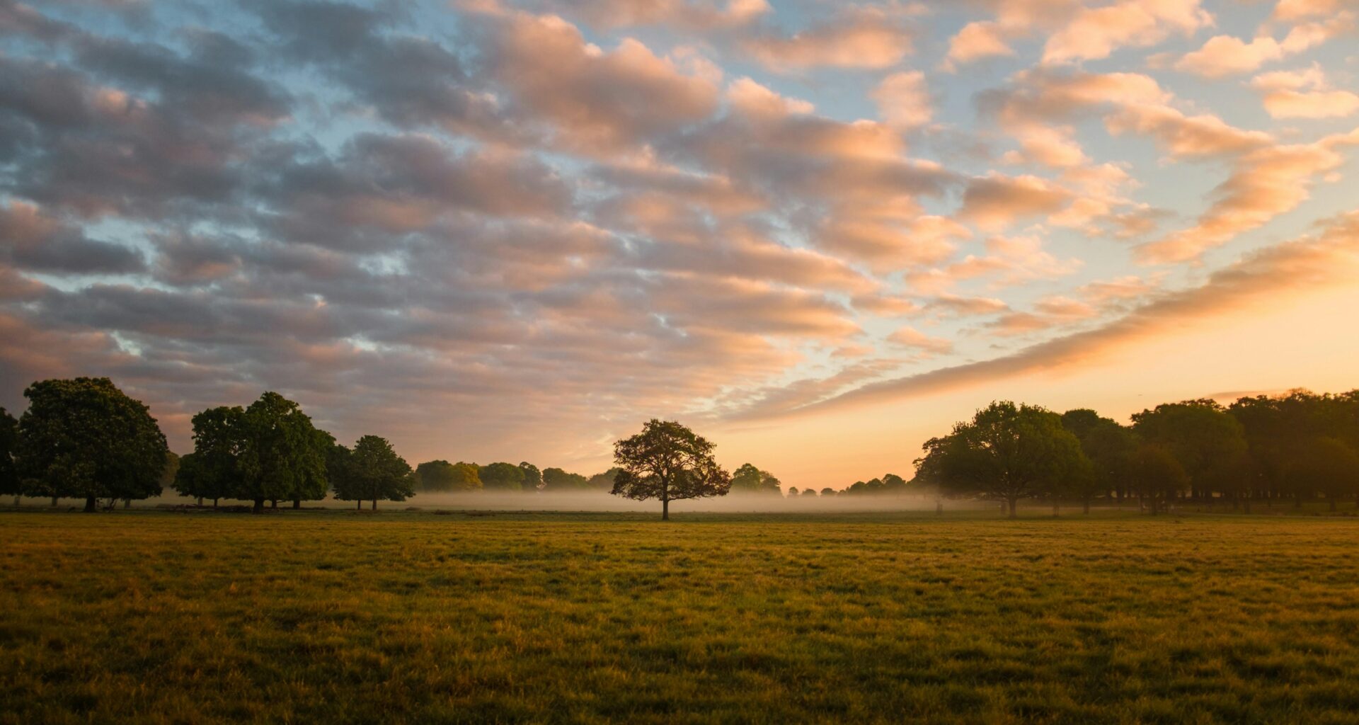
[[[24,490],[50,496],[160,495],[166,437],[149,409],[109,378],[46,380],[23,392],[18,462]]]

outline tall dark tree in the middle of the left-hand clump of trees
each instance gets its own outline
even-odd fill
[[[296,403],[266,392],[245,409],[242,427],[245,445],[230,498],[251,501],[254,513],[262,513],[265,501],[277,505],[329,483],[329,446]]]

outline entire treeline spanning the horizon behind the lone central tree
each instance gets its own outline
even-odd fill
[[[520,461],[478,465],[434,460],[412,468],[391,443],[364,435],[345,446],[317,428],[295,401],[266,392],[247,407],[215,407],[193,416],[192,453],[178,457],[140,401],[109,378],[34,382],[16,420],[0,408],[0,494],[98,501],[144,499],[166,487],[217,502],[265,503],[334,496],[357,506],[416,494],[616,492],[637,495],[646,480],[621,468],[594,475]],[[685,435],[692,431],[674,423]],[[637,438],[637,437],[635,437]],[[711,445],[696,438],[707,445]],[[624,445],[626,441],[621,441]],[[621,461],[622,458],[620,458]],[[709,464],[715,467],[715,462]],[[1139,499],[1151,511],[1176,499],[1253,501],[1359,496],[1359,390],[1242,397],[1230,405],[1186,400],[1144,409],[1121,424],[1091,409],[1056,414],[992,403],[947,435],[924,443],[906,480],[886,473],[841,487],[784,490],[769,471],[743,464],[708,472],[701,495],[902,496],[1003,502]],[[686,473],[693,479],[693,472]],[[681,479],[682,484],[684,480]],[[648,494],[648,498],[652,494]],[[669,488],[662,498],[674,496]]]

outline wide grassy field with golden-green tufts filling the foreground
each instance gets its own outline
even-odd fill
[[[0,513],[0,721],[1359,722],[1359,521]]]

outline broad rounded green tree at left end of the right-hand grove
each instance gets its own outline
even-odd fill
[[[917,479],[953,495],[1003,501],[1010,518],[1019,499],[1052,495],[1089,465],[1080,442],[1045,408],[992,403],[953,433],[925,442]]]

